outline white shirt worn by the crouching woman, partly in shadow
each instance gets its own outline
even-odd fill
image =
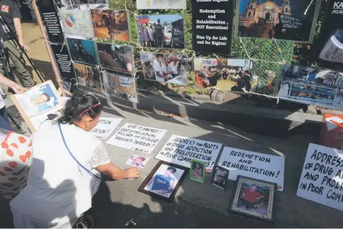
[[[111,162],[101,141],[76,125],[61,125],[70,152],[98,177],[96,167]],[[11,201],[15,228],[72,228],[100,179],[91,176],[67,151],[57,124],[45,121],[32,135],[33,163],[28,185]]]

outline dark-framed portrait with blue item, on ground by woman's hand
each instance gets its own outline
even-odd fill
[[[187,172],[189,168],[159,161],[138,191],[171,202]]]

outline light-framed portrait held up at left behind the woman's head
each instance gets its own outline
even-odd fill
[[[43,86],[48,86],[48,88],[45,90],[42,88]],[[46,87],[45,87],[46,88]],[[35,110],[38,109],[36,112],[30,112],[26,108],[23,108],[23,101],[30,101],[30,96],[33,96],[33,94],[37,94],[37,91],[40,91],[42,93],[47,93],[50,98],[49,101],[39,103],[32,105],[31,107]],[[38,97],[38,96],[37,96]],[[29,91],[27,91],[25,94],[14,94],[11,95],[11,99],[13,101],[13,104],[18,108],[18,111],[21,113],[21,116],[23,117],[23,120],[28,124],[28,128],[33,132],[37,129],[38,124],[36,123],[40,119],[47,120],[51,118],[53,115],[51,114],[56,114],[57,111],[60,111],[60,109],[63,108],[62,102],[60,100],[60,91],[57,91],[55,88],[54,84],[52,83],[51,80],[48,80],[47,82],[43,82],[42,84],[38,84],[36,86],[33,86]],[[53,99],[53,101],[52,101]],[[40,104],[46,104],[47,103],[53,103],[50,108],[38,108]],[[37,106],[37,107],[36,107]],[[49,105],[50,106],[50,105]],[[40,111],[42,110],[42,111]],[[49,115],[49,116],[47,116]],[[45,117],[45,119],[44,119]]]

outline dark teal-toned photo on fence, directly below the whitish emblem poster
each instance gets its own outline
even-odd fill
[[[99,65],[93,40],[67,38],[70,56],[74,62]]]

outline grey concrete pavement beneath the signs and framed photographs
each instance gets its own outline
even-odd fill
[[[13,113],[15,108],[9,99],[6,99],[6,104]],[[340,228],[342,226],[342,212],[296,196],[308,143],[316,141],[313,135],[272,138],[249,133],[223,123],[177,116],[167,118],[165,115],[112,105],[106,108],[103,116],[123,118],[116,130],[125,123],[135,123],[168,131],[152,154],[148,155],[150,161],[142,170],[142,179],[103,183],[94,198],[94,207],[98,213],[96,215],[98,228],[121,228],[130,218],[137,219],[139,228]],[[229,181],[227,191],[223,192],[210,186],[211,174],[207,174],[205,184],[193,182],[187,176],[172,203],[159,201],[138,192],[142,180],[158,162],[153,157],[173,134],[286,157],[284,191],[276,192],[276,223],[273,225],[227,213],[227,206],[235,191],[235,182]],[[122,168],[128,167],[125,162],[130,155],[140,155],[131,150],[105,145],[113,162]]]

